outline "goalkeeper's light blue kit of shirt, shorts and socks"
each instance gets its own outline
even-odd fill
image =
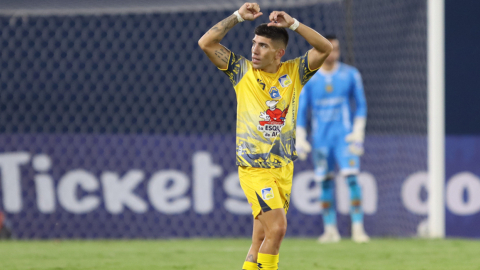
[[[352,101],[354,101],[354,105]],[[355,110],[352,110],[352,107]],[[345,137],[352,132],[353,120],[365,118],[367,104],[360,72],[337,62],[332,71],[319,70],[305,85],[300,95],[297,126],[306,128],[311,110],[312,157],[315,178],[321,182],[325,224],[336,223],[334,206],[335,164],[347,177],[350,188],[352,222],[362,222],[361,190],[357,181],[360,158],[350,152]]]

